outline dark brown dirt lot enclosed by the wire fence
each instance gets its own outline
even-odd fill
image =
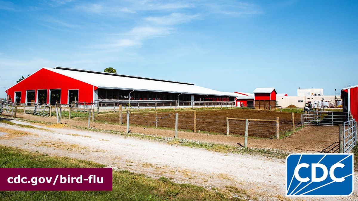
[[[124,111],[125,112],[125,111]],[[158,112],[159,127],[175,127],[174,111]],[[178,111],[178,128],[185,130],[194,130],[194,111]],[[301,115],[294,114],[295,126],[300,126]],[[287,112],[254,110],[254,109],[217,109],[207,111],[196,111],[197,131],[209,131],[214,133],[226,133],[226,117],[229,118],[248,118],[248,119],[270,119],[276,120],[279,117],[280,136],[287,131],[292,131],[292,114]],[[123,122],[126,122],[126,114],[122,114]],[[120,114],[100,114],[96,116],[97,120],[108,122],[119,122]],[[132,112],[130,114],[130,123],[155,127],[155,113]],[[229,132],[231,135],[243,135],[245,133],[245,121],[229,120]],[[275,138],[276,122],[257,122],[251,121],[249,124],[248,135],[253,137]]]

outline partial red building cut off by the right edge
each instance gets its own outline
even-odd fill
[[[343,112],[350,112],[358,121],[358,85],[341,90],[340,97],[343,101]]]

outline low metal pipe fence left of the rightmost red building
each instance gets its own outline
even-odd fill
[[[303,125],[337,126],[348,120],[348,112],[303,111]]]

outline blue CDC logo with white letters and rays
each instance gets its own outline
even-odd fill
[[[353,172],[353,154],[290,154],[286,196],[349,196]]]

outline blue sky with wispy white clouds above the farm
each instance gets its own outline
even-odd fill
[[[226,92],[358,85],[358,1],[0,0],[0,97],[42,67]]]

